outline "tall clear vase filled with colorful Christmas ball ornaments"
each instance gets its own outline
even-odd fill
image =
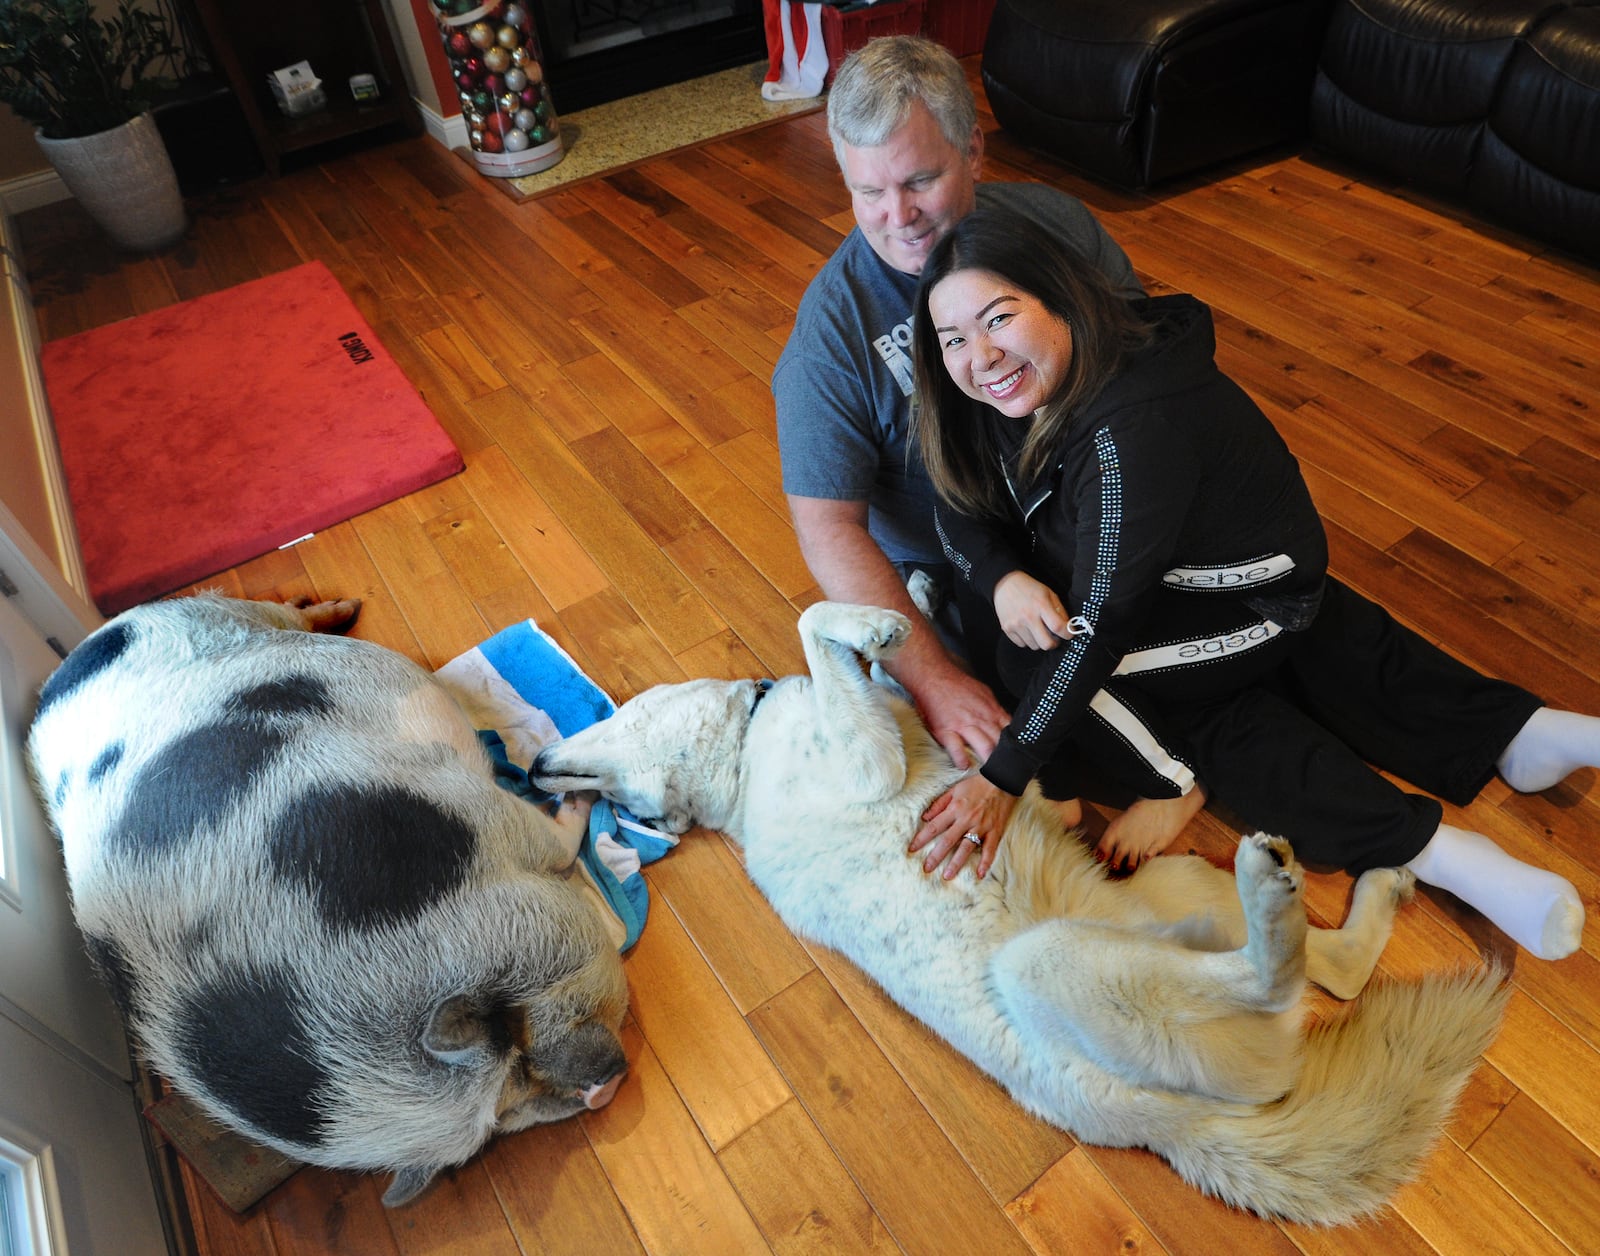
[[[517,0],[429,0],[461,93],[472,162],[499,179],[562,160],[562,130],[544,82],[533,13]]]

